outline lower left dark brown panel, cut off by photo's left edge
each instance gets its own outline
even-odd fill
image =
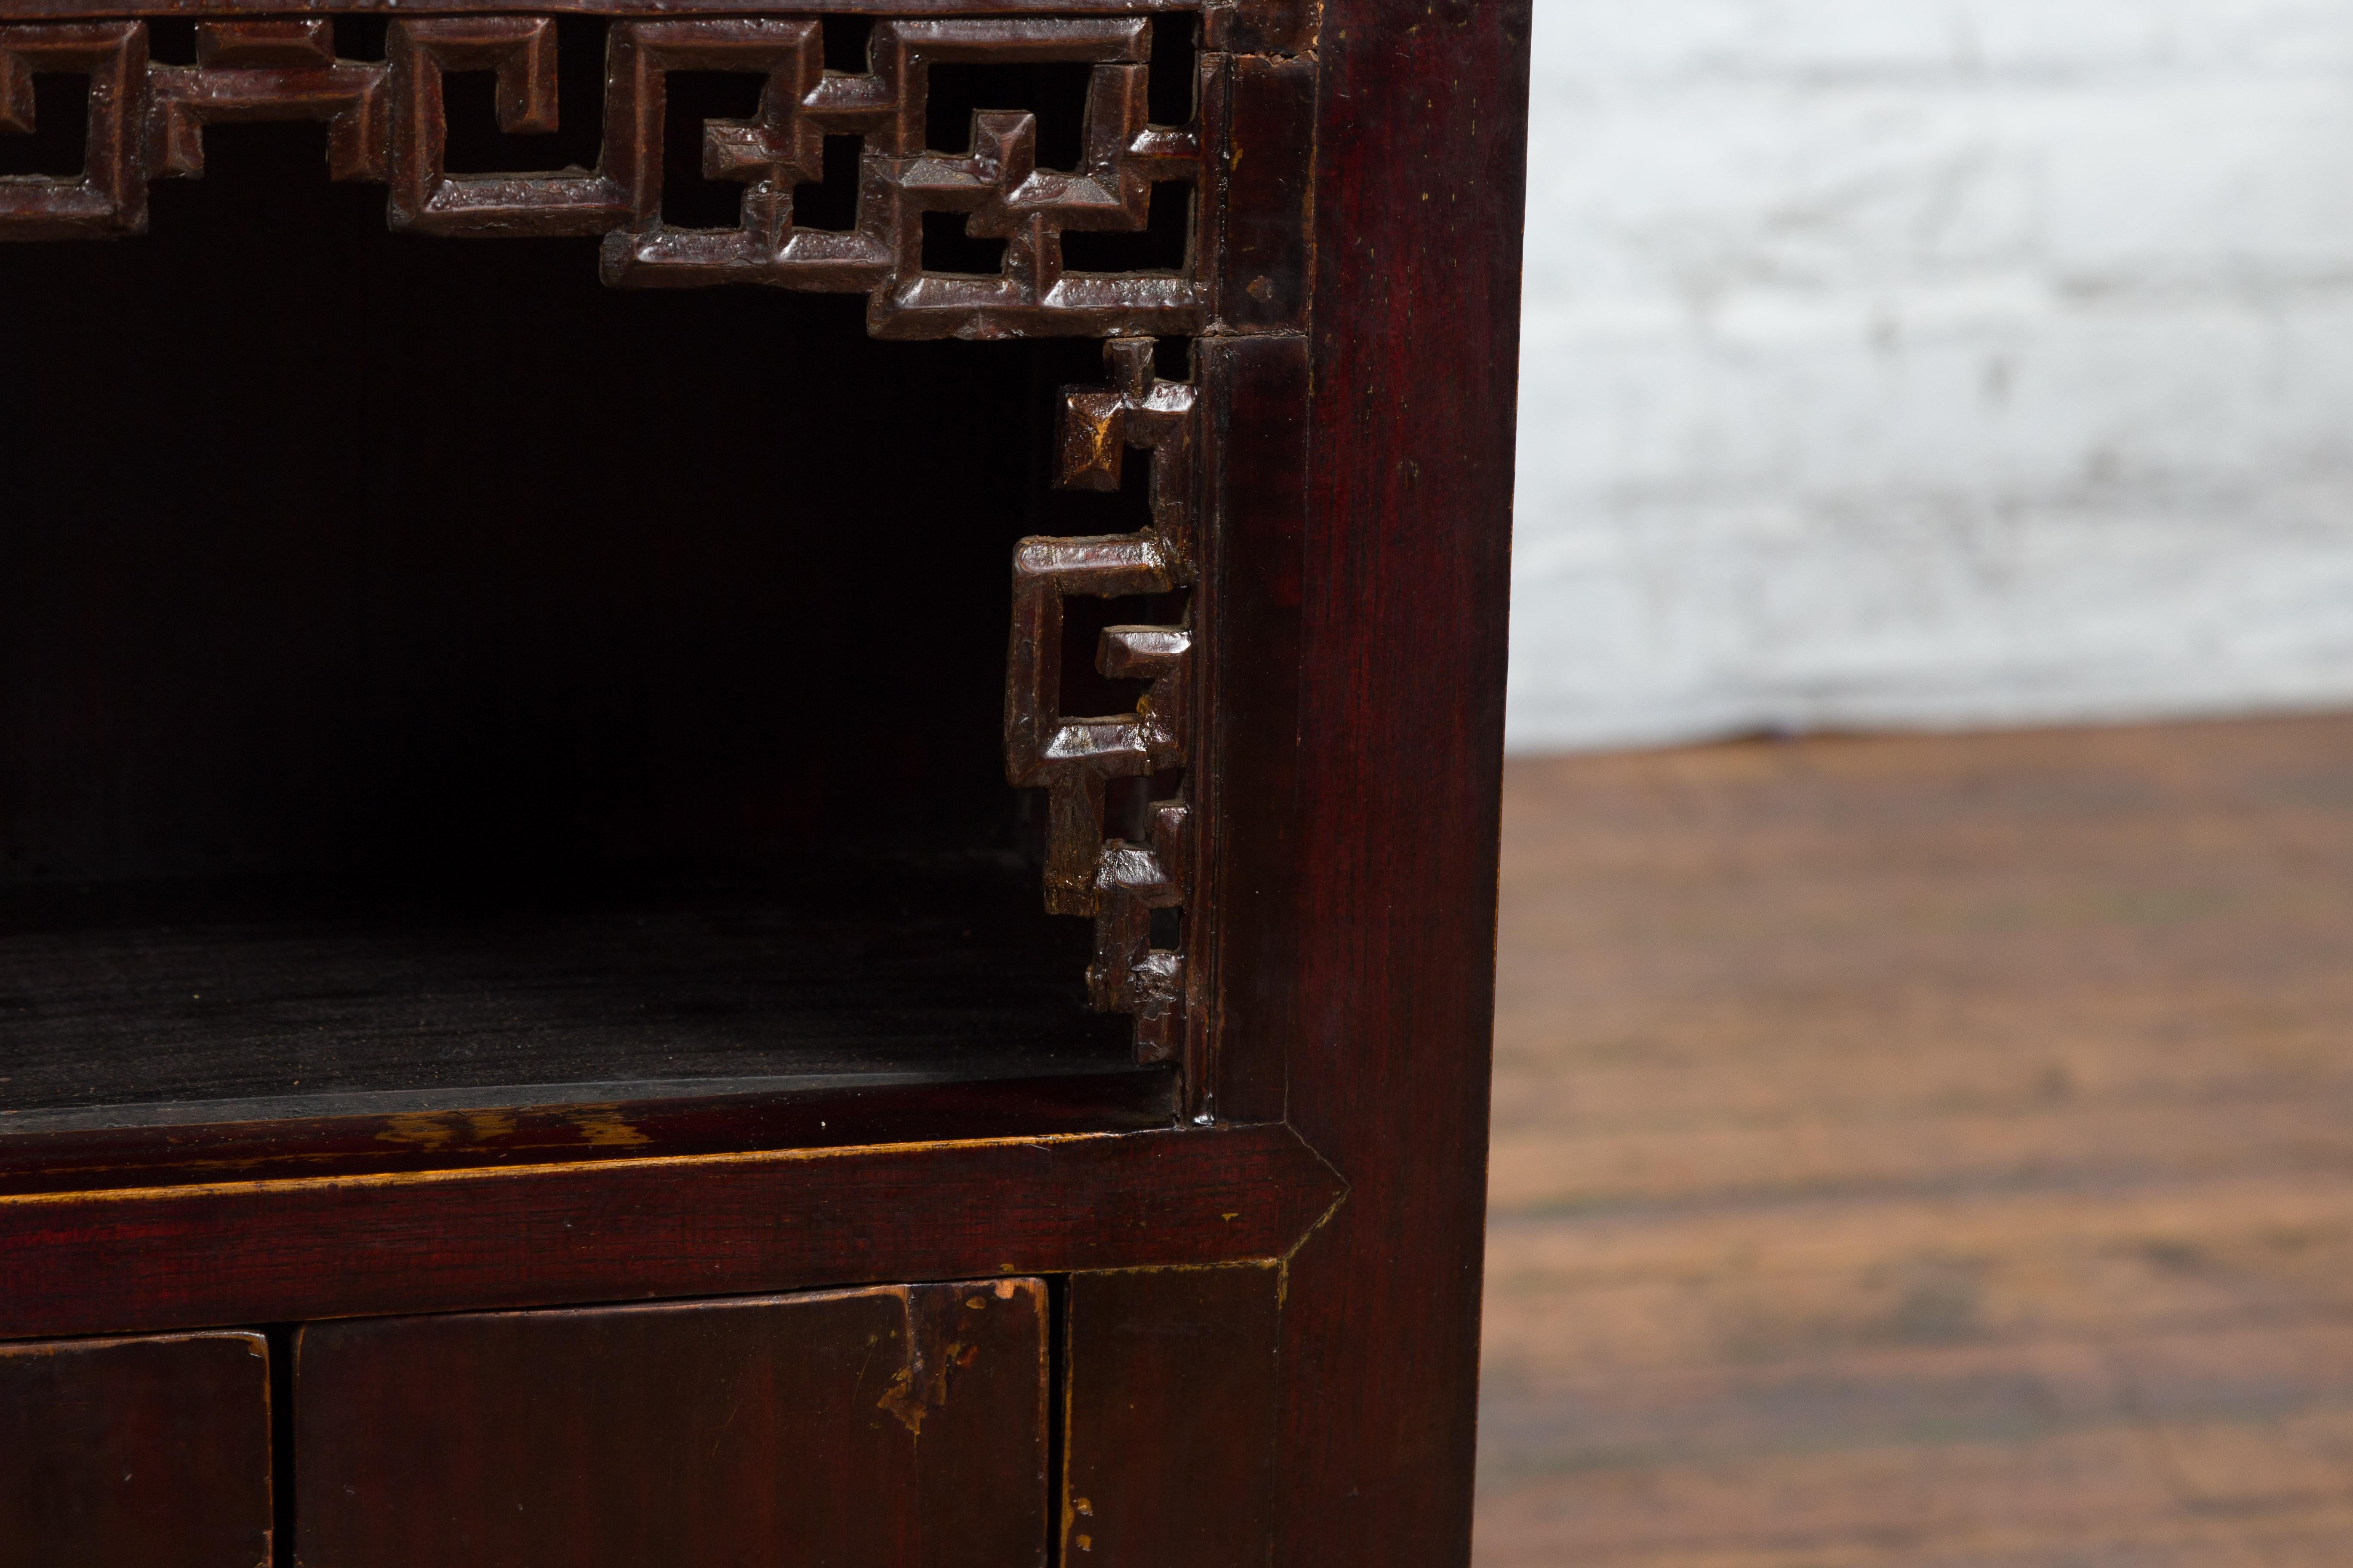
[[[268,1561],[259,1333],[0,1345],[0,1566]]]

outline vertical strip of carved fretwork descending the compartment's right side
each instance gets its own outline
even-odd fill
[[[1096,649],[1104,675],[1148,682],[1134,712],[1064,717],[1064,599],[1125,599],[1186,588],[1193,555],[1193,449],[1198,402],[1181,381],[1153,374],[1148,339],[1104,346],[1108,388],[1064,393],[1056,484],[1118,489],[1127,451],[1151,454],[1153,520],[1136,534],[1026,538],[1014,550],[1014,625],[1005,684],[1005,771],[1047,790],[1045,903],[1094,917],[1089,999],[1134,1013],[1136,1053],[1169,1060],[1184,1044],[1186,961],[1153,947],[1153,910],[1186,903],[1191,806],[1155,802],[1144,842],[1106,837],[1104,795],[1113,778],[1181,769],[1191,741],[1193,630],[1113,625]]]

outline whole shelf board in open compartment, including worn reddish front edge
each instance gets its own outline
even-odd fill
[[[0,1185],[1167,1121],[1167,1070],[1082,1006],[1085,922],[1035,886],[962,858],[466,898],[9,896]]]

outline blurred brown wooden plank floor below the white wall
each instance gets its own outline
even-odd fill
[[[1515,764],[1480,1568],[2353,1563],[2353,719]]]

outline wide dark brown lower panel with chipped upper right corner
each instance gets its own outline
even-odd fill
[[[1031,1568],[1035,1279],[318,1324],[304,1568]]]

